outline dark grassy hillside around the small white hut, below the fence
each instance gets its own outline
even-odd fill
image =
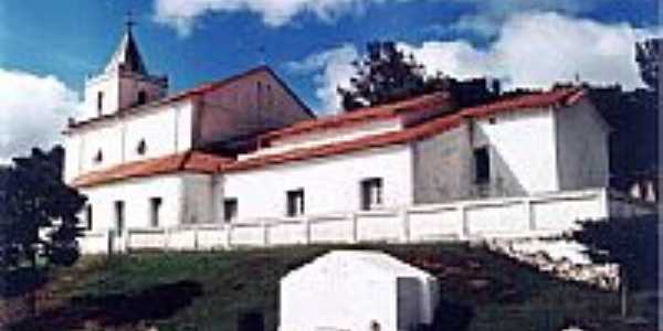
[[[40,318],[23,330],[235,330],[238,316],[260,310],[276,329],[278,279],[341,246],[217,253],[85,257],[42,291]],[[357,249],[352,246],[352,249]],[[433,273],[448,330],[559,330],[568,321],[610,329],[617,293],[562,282],[464,245],[362,246]],[[603,321],[603,322],[601,322]],[[614,329],[615,330],[615,329]]]

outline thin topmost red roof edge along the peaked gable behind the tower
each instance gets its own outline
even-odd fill
[[[209,93],[209,92],[222,88],[222,87],[224,87],[224,86],[227,86],[227,85],[229,85],[231,83],[234,83],[234,82],[240,81],[240,79],[244,79],[246,77],[253,76],[255,74],[260,74],[262,72],[267,72],[272,76],[274,76],[274,78],[281,85],[283,85],[283,87],[286,90],[286,93],[288,93],[295,99],[295,102],[298,103],[312,117],[315,117],[313,115],[313,113],[311,113],[311,109],[308,109],[308,107],[304,103],[302,103],[302,100],[288,88],[288,86],[285,83],[283,83],[283,81],[269,66],[261,65],[261,66],[254,67],[252,70],[249,70],[249,71],[246,71],[244,73],[241,73],[241,74],[238,74],[238,75],[234,75],[234,76],[231,76],[231,77],[218,81],[218,82],[206,83],[206,84],[199,85],[197,87],[193,87],[193,88],[190,88],[190,89],[186,89],[186,90],[182,90],[180,93],[177,93],[177,94],[167,96],[165,98],[155,100],[155,102],[149,103],[149,104],[145,104],[145,105],[136,106],[136,107],[124,108],[124,109],[119,109],[117,113],[114,113],[114,114],[106,114],[106,115],[103,115],[103,116],[99,116],[99,117],[94,117],[94,118],[86,119],[86,120],[83,120],[83,121],[73,122],[73,124],[71,124],[69,126],[67,130],[82,128],[82,127],[85,127],[85,126],[87,126],[90,124],[103,121],[103,120],[109,119],[109,118],[116,118],[116,117],[122,117],[124,115],[140,113],[140,111],[144,111],[146,109],[149,109],[149,108],[152,108],[152,107],[156,107],[156,106],[172,104],[172,103],[181,102],[181,100],[185,100],[185,99],[191,99],[191,98],[193,98],[196,96],[200,96],[200,95],[203,95],[206,93]]]

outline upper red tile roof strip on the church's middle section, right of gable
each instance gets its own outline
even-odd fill
[[[440,106],[444,105],[448,99],[449,94],[446,93],[429,94],[393,104],[368,107],[350,113],[299,121],[290,127],[264,134],[259,139],[261,143],[263,143],[270,140],[291,137],[309,131],[346,127],[376,119],[389,119],[413,111],[432,110],[440,108]]]

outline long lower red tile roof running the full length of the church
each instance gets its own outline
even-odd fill
[[[421,125],[400,131],[373,135],[355,140],[335,142],[311,148],[298,148],[277,154],[265,154],[242,161],[189,151],[168,157],[119,164],[110,169],[94,171],[76,178],[74,186],[86,188],[129,178],[145,178],[173,172],[217,173],[256,169],[270,164],[324,158],[371,148],[388,147],[424,139],[460,126],[465,118],[484,118],[515,110],[536,109],[550,106],[568,106],[577,103],[582,89],[567,88],[548,93],[532,94],[492,104],[461,109],[452,115],[438,117]],[[438,99],[438,102],[443,102]],[[402,103],[399,103],[402,104]],[[393,108],[393,107],[392,107]],[[401,110],[399,110],[401,111]]]

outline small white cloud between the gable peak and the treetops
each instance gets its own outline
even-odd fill
[[[313,54],[301,62],[290,63],[288,67],[298,74],[314,73],[315,95],[320,100],[320,111],[329,114],[338,111],[340,97],[336,93],[336,88],[338,86],[348,87],[349,79],[355,74],[351,63],[357,58],[359,58],[357,49],[346,44]]]

